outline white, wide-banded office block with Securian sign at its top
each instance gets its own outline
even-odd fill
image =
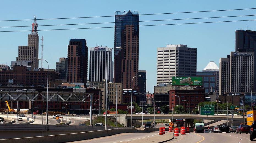
[[[157,48],[156,84],[172,83],[172,77],[196,77],[196,48],[166,45]]]

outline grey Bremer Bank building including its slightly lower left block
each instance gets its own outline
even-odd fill
[[[228,92],[251,92],[249,87],[255,84],[253,65],[254,52],[230,52],[227,58],[221,58],[219,60],[219,95]],[[241,86],[241,84],[247,86]]]

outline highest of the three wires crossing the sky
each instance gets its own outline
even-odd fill
[[[153,14],[138,14],[138,15],[159,15],[159,14],[178,14],[178,13],[198,13],[198,12],[215,12],[215,11],[233,11],[233,10],[251,10],[256,8],[230,9],[230,10],[208,10],[208,11],[190,11],[190,12],[175,12],[175,13],[153,13]],[[114,17],[114,16],[91,16],[91,17],[68,17],[68,18],[46,18],[37,20],[52,20],[52,19],[76,19],[76,18],[97,18],[97,17]],[[34,19],[19,19],[19,20],[1,20],[1,21],[30,21]],[[0,22],[1,22],[0,21]]]

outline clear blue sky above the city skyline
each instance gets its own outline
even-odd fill
[[[256,1],[1,1],[1,20],[65,18],[114,16],[115,11],[134,11],[140,14],[174,13],[189,11],[229,10],[256,8]],[[239,16],[255,14],[253,10],[219,11],[204,13],[141,15],[140,21],[185,19],[199,17]],[[214,19],[193,19],[175,21],[140,22],[140,25],[178,24],[194,22],[253,20],[256,16],[229,17]],[[114,22],[114,17],[38,20],[38,25],[78,24]],[[166,44],[185,44],[197,48],[197,71],[202,71],[210,61],[219,66],[219,59],[227,57],[235,51],[235,30],[256,30],[256,21],[223,22],[208,24],[185,24],[145,26],[139,29],[139,70],[147,71],[147,91],[153,93],[156,86],[156,48]],[[29,26],[33,21],[0,22],[0,27]],[[69,26],[38,26],[38,30],[64,28],[114,27],[111,24],[88,24]],[[31,27],[0,28],[0,31],[31,30]],[[18,56],[18,46],[27,45],[26,32],[0,32],[1,57],[0,64],[10,66]],[[86,39],[87,46],[114,46],[114,28],[82,29],[82,30],[53,30],[38,31],[39,39],[43,36],[43,59],[49,62],[49,68],[55,69],[59,57],[67,57],[67,45],[70,38]],[[41,40],[39,41],[39,47]],[[41,48],[39,48],[39,58]],[[41,67],[41,62],[39,62]],[[47,64],[43,63],[47,68]],[[89,72],[88,72],[89,73]]]

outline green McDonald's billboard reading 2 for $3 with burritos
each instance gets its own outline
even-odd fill
[[[172,77],[172,85],[202,86],[202,77]]]

